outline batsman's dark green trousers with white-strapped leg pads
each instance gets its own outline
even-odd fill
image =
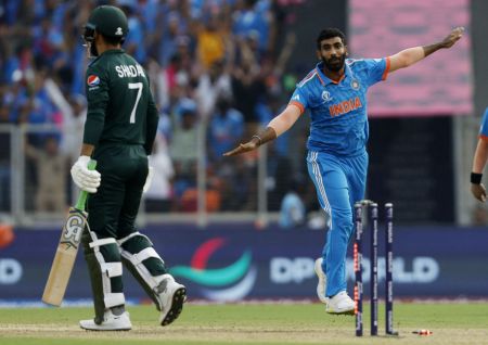
[[[136,228],[147,176],[144,149],[105,145],[97,149],[93,158],[102,181],[98,192],[88,199],[90,232],[85,231],[82,244],[93,293],[94,320],[101,323],[107,308],[125,304],[123,261],[155,302],[154,289],[166,268],[151,241]]]

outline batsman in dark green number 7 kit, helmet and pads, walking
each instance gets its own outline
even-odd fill
[[[146,72],[121,49],[127,34],[126,15],[112,5],[95,8],[84,33],[93,60],[87,68],[84,143],[70,171],[75,183],[90,193],[81,242],[95,316],[79,324],[93,331],[132,328],[125,309],[123,264],[154,301],[162,325],[178,318],[187,294],[151,240],[136,228],[143,188],[151,182],[147,155],[158,113]],[[88,169],[90,159],[98,162],[97,170]]]

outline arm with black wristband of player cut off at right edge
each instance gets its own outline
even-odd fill
[[[479,128],[478,144],[473,157],[473,169],[471,170],[471,192],[481,203],[486,202],[486,189],[481,183],[483,170],[488,159],[488,107],[483,115]]]

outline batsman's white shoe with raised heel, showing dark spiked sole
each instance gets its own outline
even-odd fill
[[[160,325],[168,325],[175,321],[183,309],[183,303],[187,301],[187,288],[175,281],[170,274],[164,274],[164,279],[157,285],[157,299],[159,301]]]

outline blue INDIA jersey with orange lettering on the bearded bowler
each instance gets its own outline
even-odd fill
[[[386,79],[389,58],[347,59],[345,74],[336,82],[317,64],[296,87],[288,104],[310,111],[308,150],[341,156],[355,156],[365,151],[369,136],[368,88]]]

